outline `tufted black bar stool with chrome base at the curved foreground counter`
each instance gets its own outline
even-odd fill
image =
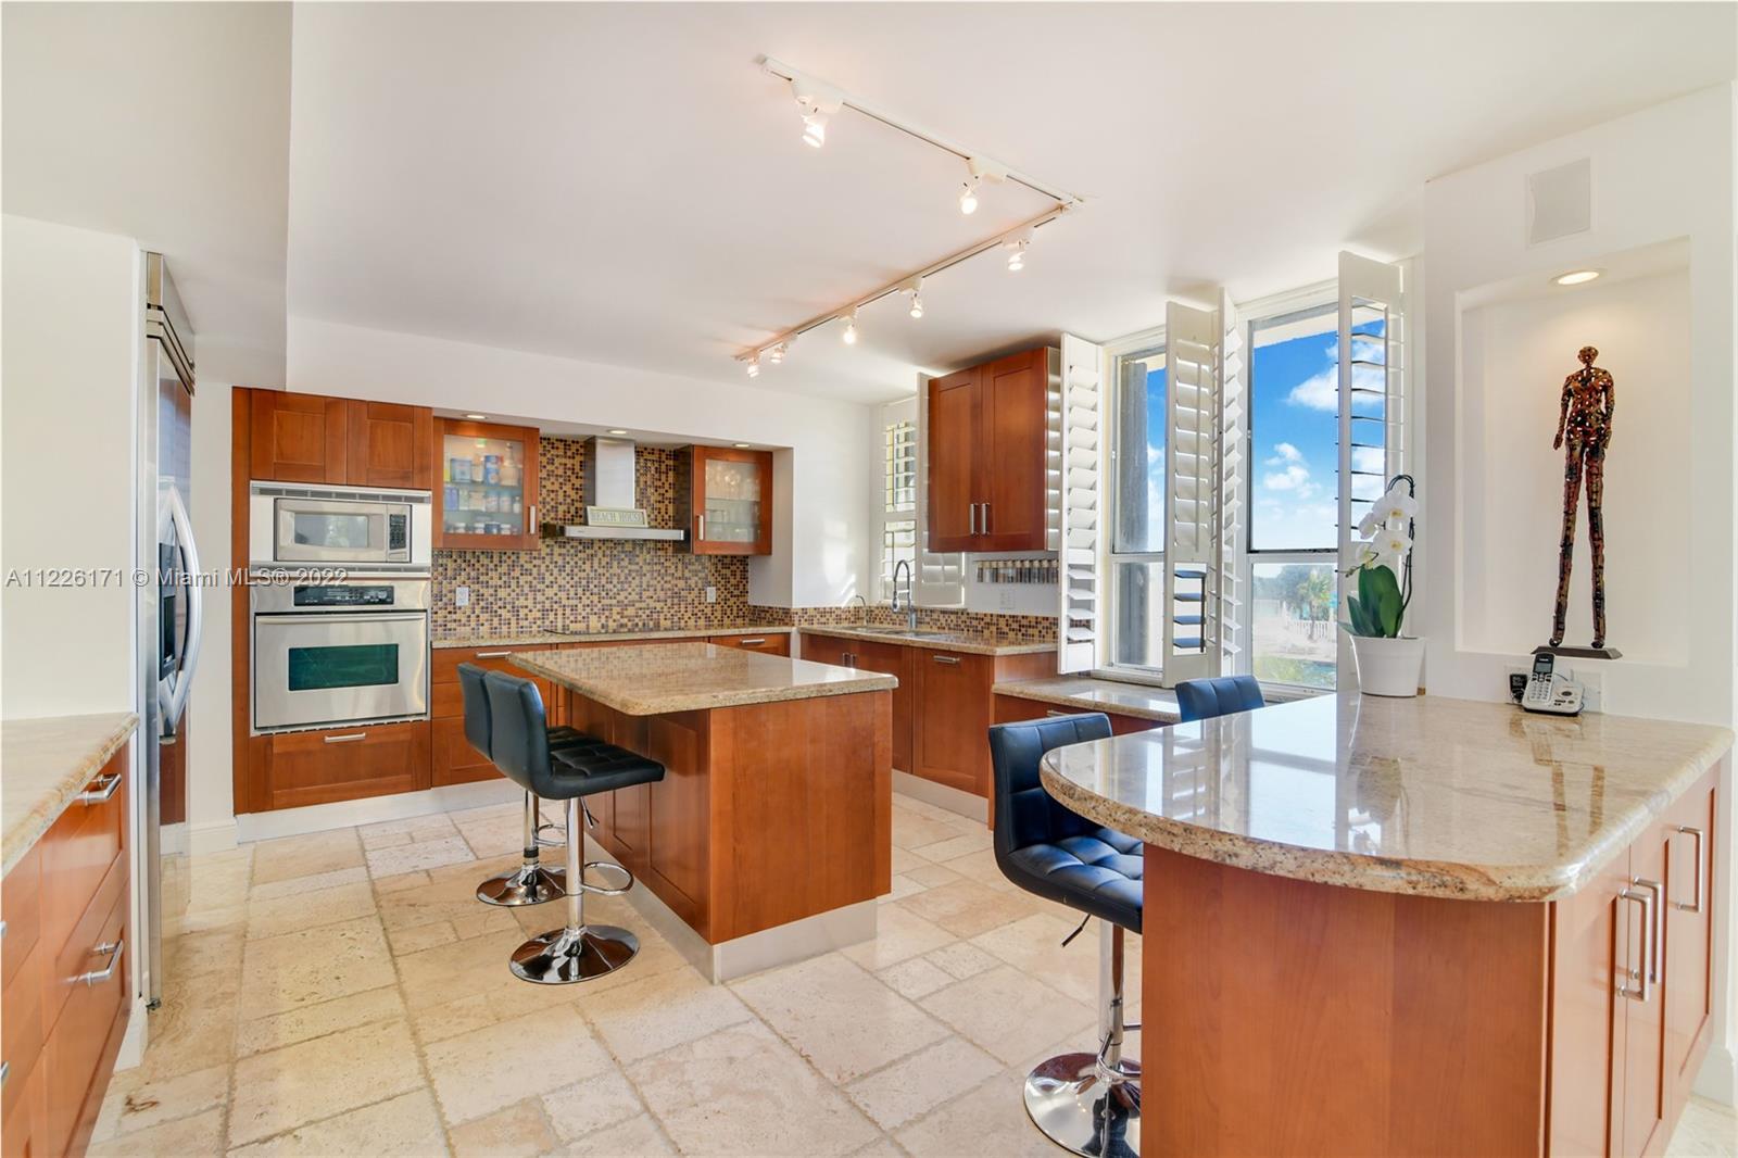
[[[1123,1024],[1123,930],[1140,934],[1142,845],[1062,807],[1038,779],[1051,748],[1109,735],[1111,720],[1097,711],[989,730],[996,866],[1020,888],[1100,920],[1098,1048],[1039,1064],[1025,1078],[1025,1113],[1076,1155],[1135,1158],[1140,1062],[1123,1057],[1123,1033],[1140,1026]]]

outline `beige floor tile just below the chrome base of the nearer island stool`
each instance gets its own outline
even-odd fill
[[[612,1064],[570,1005],[436,1042],[428,1047],[426,1057],[441,1113],[454,1125],[570,1085]]]

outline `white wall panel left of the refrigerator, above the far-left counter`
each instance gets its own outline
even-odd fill
[[[7,216],[3,235],[3,532],[7,572],[136,565],[139,247]],[[129,711],[137,697],[137,591],[5,584],[5,716]]]

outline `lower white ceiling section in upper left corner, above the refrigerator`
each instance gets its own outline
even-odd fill
[[[200,374],[283,381],[289,3],[5,3],[9,214],[169,256]]]

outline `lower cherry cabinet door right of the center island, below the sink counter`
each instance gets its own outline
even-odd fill
[[[911,772],[989,796],[989,657],[921,647],[912,650],[916,725]]]

